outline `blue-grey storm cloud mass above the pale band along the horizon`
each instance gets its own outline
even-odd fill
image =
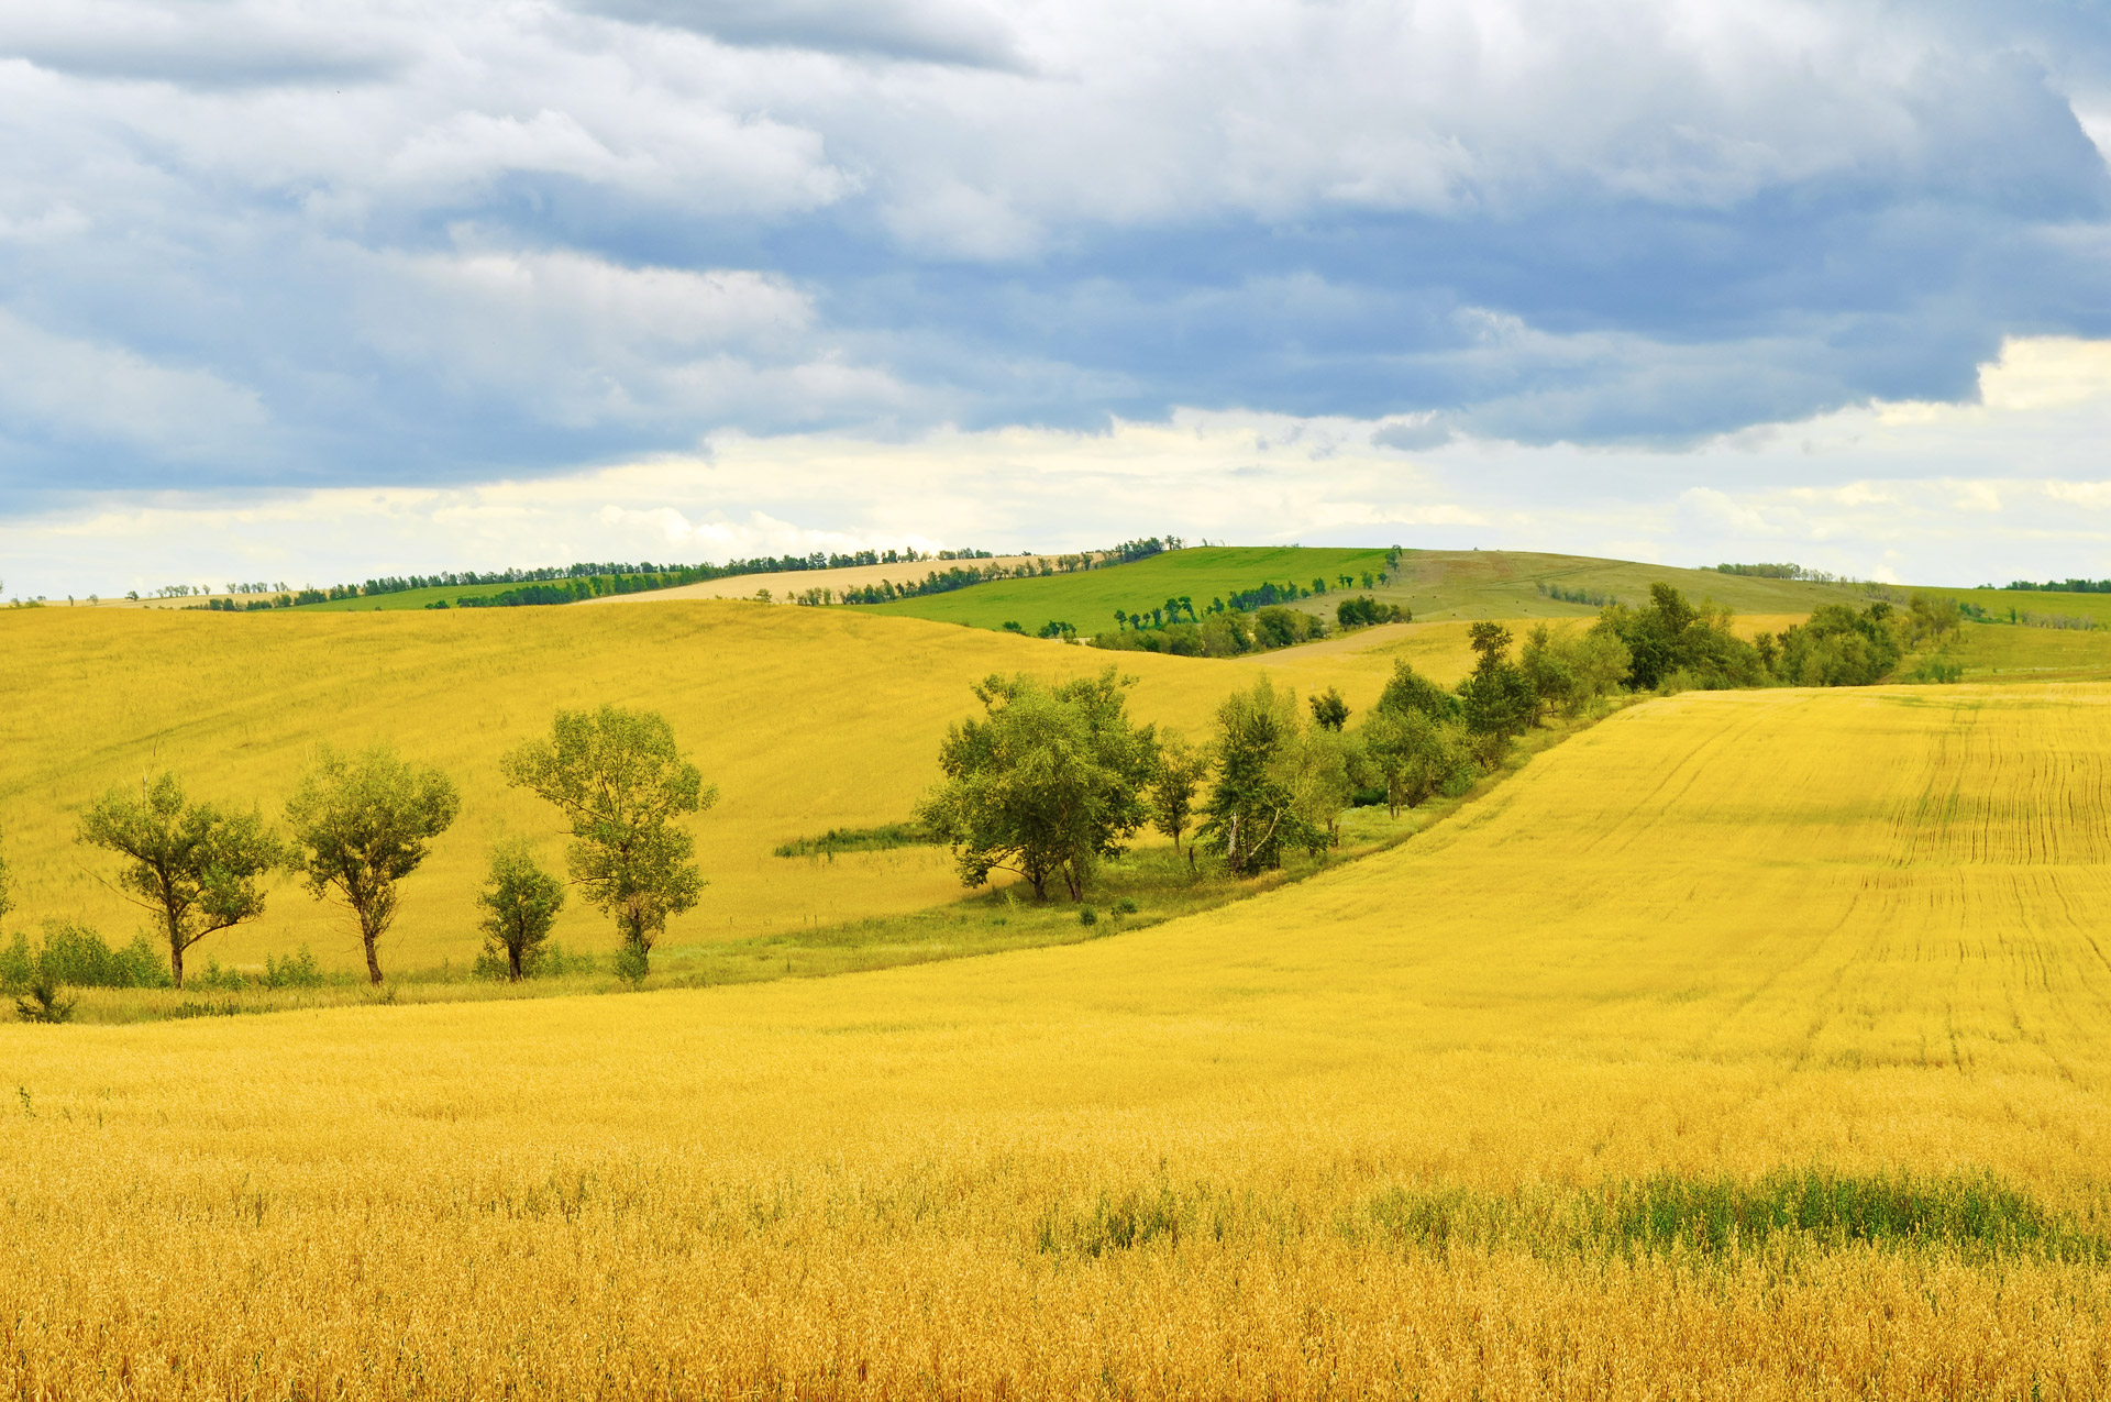
[[[1176,410],[1676,448],[2111,331],[2060,4],[0,15],[0,484]]]

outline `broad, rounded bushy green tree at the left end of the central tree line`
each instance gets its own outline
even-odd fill
[[[1077,902],[1093,864],[1127,851],[1159,766],[1157,733],[1129,724],[1129,684],[1108,667],[1062,686],[994,674],[975,686],[986,718],[946,733],[946,779],[916,807],[952,847],[963,885],[1009,870],[1047,899],[1060,874]]]

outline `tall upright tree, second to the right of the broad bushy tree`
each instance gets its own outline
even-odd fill
[[[1296,697],[1260,678],[1218,705],[1216,724],[1216,788],[1197,840],[1237,876],[1281,866],[1283,847],[1326,849],[1328,834],[1307,817],[1294,785],[1305,737]]]

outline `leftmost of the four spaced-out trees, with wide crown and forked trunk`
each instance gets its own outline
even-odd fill
[[[118,891],[152,910],[169,940],[169,973],[184,986],[184,950],[264,914],[260,880],[287,864],[262,813],[224,813],[186,802],[173,773],[139,781],[139,798],[114,788],[80,815],[80,842],[125,857]]]

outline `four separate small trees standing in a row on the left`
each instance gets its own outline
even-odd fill
[[[572,885],[614,921],[623,942],[616,971],[644,978],[667,918],[703,893],[695,838],[676,819],[711,807],[718,790],[682,758],[663,716],[616,705],[557,712],[549,737],[507,754],[502,773],[507,783],[555,804],[572,836]],[[346,906],[367,978],[380,984],[380,946],[403,880],[460,807],[445,773],[386,745],[361,754],[321,747],[285,802],[287,838],[258,809],[192,800],[173,773],[141,779],[137,794],[106,792],[80,815],[76,838],[118,857],[114,885],[154,916],[177,988],[184,956],[201,940],[264,914],[274,872],[291,872],[317,899]],[[543,870],[526,840],[498,842],[479,893],[488,954],[502,956],[511,978],[524,978],[564,902],[566,883]],[[0,861],[0,914],[8,908]]]

